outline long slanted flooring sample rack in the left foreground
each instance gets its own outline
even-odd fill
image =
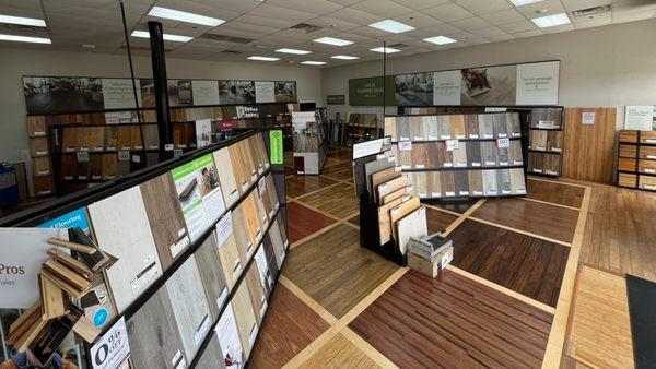
[[[85,295],[75,303],[85,314],[98,303],[108,310],[103,334],[125,318],[133,368],[225,368],[227,355],[242,367],[289,248],[284,168],[269,152],[268,130],[235,129],[225,141],[0,224],[85,219],[90,237],[118,261],[89,291],[102,285],[103,302],[86,306]]]

